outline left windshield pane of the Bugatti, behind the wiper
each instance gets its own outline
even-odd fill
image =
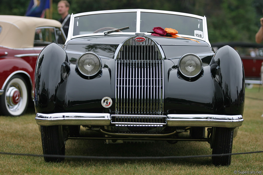
[[[74,18],[73,36],[103,33],[129,26],[123,32],[136,32],[136,12],[102,13]]]

